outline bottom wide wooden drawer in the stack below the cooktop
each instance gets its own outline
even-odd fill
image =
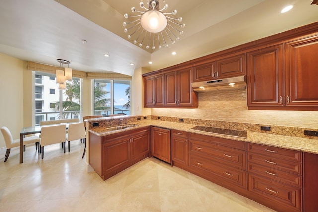
[[[189,154],[189,166],[208,171],[224,178],[228,182],[230,181],[242,188],[247,188],[247,171],[226,165],[219,165],[219,163],[194,154]]]

